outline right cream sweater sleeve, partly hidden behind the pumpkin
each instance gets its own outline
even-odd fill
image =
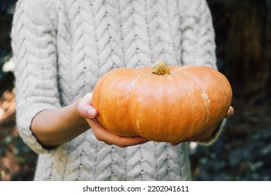
[[[180,3],[183,65],[205,65],[217,70],[215,56],[215,32],[211,11],[206,0],[182,1]],[[199,144],[210,145],[220,136],[227,119],[217,126],[213,135]]]

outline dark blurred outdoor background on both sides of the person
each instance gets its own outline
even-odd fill
[[[15,124],[10,27],[16,0],[0,0],[0,180],[33,180],[37,155]],[[193,180],[271,180],[271,1],[208,0],[217,65],[235,114],[212,146],[190,144]]]

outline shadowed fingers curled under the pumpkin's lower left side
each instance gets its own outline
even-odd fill
[[[104,141],[106,144],[113,144],[121,148],[127,146],[135,146],[140,143],[146,143],[147,139],[142,137],[122,137],[116,134],[113,134],[106,130],[97,119],[88,120],[90,127],[92,127],[93,134],[99,141]]]

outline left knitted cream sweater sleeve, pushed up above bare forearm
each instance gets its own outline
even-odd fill
[[[40,111],[60,107],[57,68],[56,31],[50,17],[49,2],[19,0],[11,31],[17,127],[24,142],[35,153],[51,153],[31,132],[31,121]],[[50,15],[50,17],[49,17]]]

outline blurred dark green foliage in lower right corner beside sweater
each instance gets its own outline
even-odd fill
[[[271,180],[271,128],[238,146],[226,143],[226,136],[190,151],[195,180]]]

